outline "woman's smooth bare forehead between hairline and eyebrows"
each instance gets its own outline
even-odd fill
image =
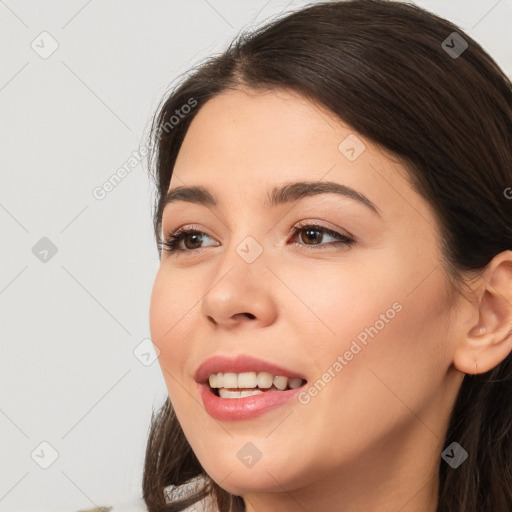
[[[229,91],[205,103],[187,131],[169,189],[200,185],[220,200],[257,196],[261,203],[277,185],[315,180],[362,192],[388,219],[431,215],[392,154],[323,106],[285,90]]]

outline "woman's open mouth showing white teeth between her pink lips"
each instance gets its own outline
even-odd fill
[[[210,391],[220,398],[245,398],[268,392],[296,389],[306,384],[305,379],[272,375],[268,372],[212,373]]]

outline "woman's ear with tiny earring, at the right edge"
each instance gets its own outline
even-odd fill
[[[478,278],[471,325],[462,331],[453,364],[467,374],[485,373],[512,351],[512,251],[496,255]]]

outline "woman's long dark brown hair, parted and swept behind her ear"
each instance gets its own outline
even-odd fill
[[[240,34],[181,77],[151,126],[157,242],[192,119],[209,99],[241,86],[296,91],[397,155],[441,226],[443,265],[455,287],[464,284],[462,271],[478,273],[512,249],[512,84],[460,28],[390,0],[308,5]],[[470,456],[452,469],[439,454],[438,512],[512,510],[511,381],[512,354],[464,378],[445,446],[456,441]],[[202,491],[166,503],[166,487],[198,476],[207,482]],[[181,511],[207,495],[220,512],[245,510],[241,497],[205,473],[169,398],[151,419],[142,486],[150,512]]]

